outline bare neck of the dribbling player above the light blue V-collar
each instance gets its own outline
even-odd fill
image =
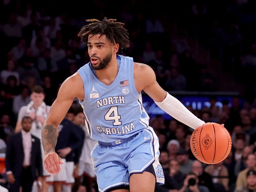
[[[97,78],[104,84],[110,85],[118,74],[118,63],[116,58],[112,58],[108,66],[101,70],[95,71]]]

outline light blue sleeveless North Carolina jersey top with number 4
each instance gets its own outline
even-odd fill
[[[78,70],[84,83],[85,125],[90,137],[101,142],[129,138],[148,127],[149,116],[134,83],[133,59],[117,55],[119,70],[111,85],[95,75],[91,62]]]

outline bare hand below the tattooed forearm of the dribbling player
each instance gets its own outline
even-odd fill
[[[60,164],[63,164],[63,161],[57,153],[44,154],[44,167],[50,174],[58,174],[60,172]]]

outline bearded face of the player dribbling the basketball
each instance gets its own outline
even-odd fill
[[[106,35],[89,35],[88,37],[88,54],[94,70],[104,69],[112,60],[115,53],[115,46],[111,43]]]

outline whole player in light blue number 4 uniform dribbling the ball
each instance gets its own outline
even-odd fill
[[[156,82],[154,71],[131,57],[117,55],[129,47],[123,23],[104,18],[87,20],[79,32],[88,46],[91,62],[81,67],[61,85],[42,130],[44,166],[51,174],[60,172],[62,161],[55,153],[56,128],[77,97],[84,109],[90,137],[98,140],[91,152],[99,191],[153,192],[155,183],[164,183],[158,161],[159,142],[148,126],[141,91],[182,123],[196,129],[204,121]]]

